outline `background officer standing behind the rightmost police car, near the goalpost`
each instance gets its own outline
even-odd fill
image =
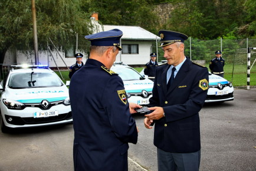
[[[213,58],[209,64],[211,73],[219,75],[221,77],[224,77],[223,67],[225,65],[225,60],[224,60],[224,58],[221,57],[221,51],[216,51],[215,55],[216,55],[216,57]]]

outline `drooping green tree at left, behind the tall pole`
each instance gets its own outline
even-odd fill
[[[45,48],[49,38],[55,45],[75,44],[76,33],[90,32],[90,19],[80,8],[81,0],[41,0],[35,5],[38,48]],[[2,0],[0,8],[0,63],[3,63],[9,48],[31,50],[34,45],[31,1]]]

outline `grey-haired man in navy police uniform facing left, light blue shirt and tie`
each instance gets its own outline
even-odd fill
[[[159,171],[199,170],[199,111],[208,91],[208,69],[185,57],[185,34],[160,30],[159,35],[167,64],[156,68],[152,113],[145,115],[144,124],[147,129],[155,124]]]

